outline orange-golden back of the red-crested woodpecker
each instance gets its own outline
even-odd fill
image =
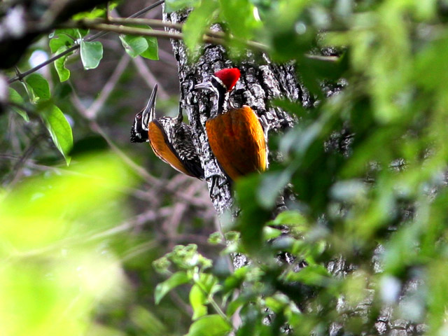
[[[205,125],[211,151],[233,181],[267,167],[265,134],[253,110],[230,109]]]

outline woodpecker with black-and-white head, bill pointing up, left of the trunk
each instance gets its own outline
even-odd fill
[[[158,85],[155,85],[148,104],[134,118],[131,142],[149,142],[160,160],[183,174],[204,179],[204,169],[193,144],[191,127],[182,122],[181,106],[177,118],[155,118],[157,88]]]

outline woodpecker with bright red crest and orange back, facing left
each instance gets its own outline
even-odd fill
[[[247,105],[225,111],[228,93],[239,76],[237,68],[223,69],[214,73],[211,80],[195,86],[217,96],[217,116],[208,119],[205,128],[211,151],[231,181],[267,167],[265,134],[255,112]]]

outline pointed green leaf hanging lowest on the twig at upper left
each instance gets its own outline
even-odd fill
[[[55,105],[45,104],[41,109],[41,117],[55,146],[64,155],[66,164],[69,165],[70,157],[68,155],[73,147],[73,134],[64,113]]]

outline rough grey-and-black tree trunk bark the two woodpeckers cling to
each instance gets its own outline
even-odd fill
[[[164,13],[164,20],[183,23],[188,13],[188,10]],[[169,30],[178,32],[175,29]],[[270,99],[288,97],[302,102],[305,106],[310,106],[312,99],[307,90],[304,90],[304,87],[297,82],[293,65],[272,64],[266,55],[254,55],[251,51],[246,52],[245,59],[236,64],[228,59],[225,48],[221,45],[210,44],[204,46],[202,57],[196,63],[190,64],[183,41],[172,40],[172,46],[179,66],[181,102],[193,127],[211,201],[218,214],[222,214],[232,206],[232,194],[227,179],[211,153],[205,132],[207,113],[212,103],[209,101],[210,94],[202,90],[194,90],[195,85],[208,80],[209,76],[218,70],[234,66],[239,68],[241,78],[230,95],[230,103],[233,106],[244,104],[251,106],[262,119],[263,127],[267,127],[269,132],[278,132],[293,125],[293,118],[287,113],[276,107],[267,106]],[[217,183],[212,183],[213,176],[219,176]],[[212,187],[213,190],[211,190]]]

